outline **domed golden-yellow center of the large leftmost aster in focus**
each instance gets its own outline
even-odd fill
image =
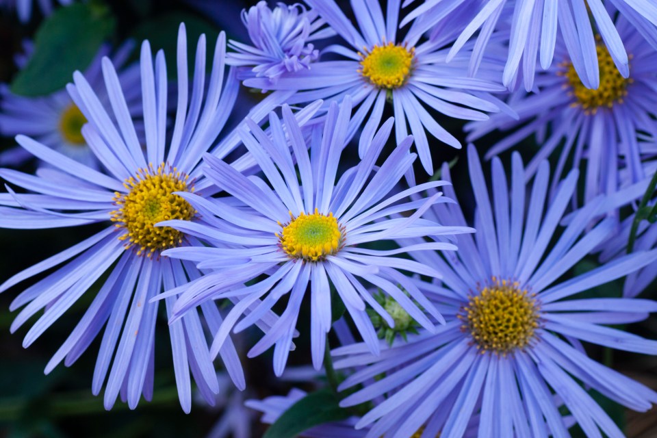
[[[138,246],[137,255],[152,257],[155,251],[181,244],[183,233],[171,227],[155,227],[155,224],[194,217],[194,208],[174,194],[194,191],[193,187],[191,190],[188,187],[188,175],[162,163],[157,170],[152,165],[138,170],[136,177],[126,179],[123,185],[129,192],[114,194],[118,209],[110,214],[112,222],[118,222],[116,227],[127,230],[119,237],[128,240],[126,248]]]

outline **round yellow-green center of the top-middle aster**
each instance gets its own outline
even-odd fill
[[[359,53],[361,69],[359,72],[378,88],[399,88],[411,74],[415,49],[391,42],[374,46],[371,51]]]

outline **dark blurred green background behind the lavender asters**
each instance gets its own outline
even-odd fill
[[[175,79],[173,62],[177,28],[181,21],[184,21],[187,27],[190,53],[194,53],[193,48],[201,34],[206,34],[212,44],[222,29],[226,31],[228,38],[246,40],[239,14],[243,8],[255,3],[248,0],[91,0],[86,4],[77,3],[68,8],[59,8],[50,18],[44,18],[37,12],[25,25],[19,23],[12,12],[0,12],[0,82],[11,83],[12,90],[17,94],[37,95],[60,89],[71,80],[74,70],[86,68],[103,40],[118,45],[129,38],[137,42],[133,60],[138,60],[139,44],[146,38],[151,41],[153,49],[164,49],[169,77]],[[350,11],[350,8],[345,10]],[[28,67],[18,72],[14,56],[21,53],[25,39],[34,39],[35,53]],[[246,101],[246,104],[239,106],[248,109],[250,102],[257,99],[257,93],[243,90],[240,99],[241,102]],[[240,116],[235,116],[235,120],[239,119]],[[465,144],[463,123],[460,120],[446,119],[440,120],[440,123]],[[486,142],[477,144],[478,149],[485,151],[502,136],[502,133],[489,136]],[[13,139],[0,138],[0,148],[13,145]],[[537,144],[526,140],[517,149],[521,151],[525,162],[528,162],[537,150]],[[443,144],[435,144],[433,149],[435,163],[452,162],[459,158],[454,161],[452,178],[459,201],[467,211],[472,209],[474,202],[472,194],[469,193],[467,164],[463,155],[463,151]],[[351,157],[352,160],[356,158]],[[502,159],[508,166],[510,154],[505,154]],[[33,171],[34,163],[27,164],[22,170]],[[417,172],[417,175],[423,175],[423,172]],[[417,182],[423,182],[422,178]],[[8,279],[12,274],[72,246],[81,238],[98,230],[98,227],[43,231],[0,230],[0,279]],[[589,257],[574,269],[584,272],[595,268],[597,264],[595,257]],[[127,404],[118,402],[112,411],[107,412],[103,408],[102,398],[94,397],[90,390],[96,359],[94,352],[98,350],[100,339],[96,339],[88,352],[71,368],[60,365],[49,376],[43,374],[53,352],[66,339],[83,309],[91,302],[93,291],[81,298],[34,346],[25,350],[21,342],[27,331],[25,327],[29,327],[30,323],[11,335],[10,325],[16,313],[9,311],[10,302],[23,287],[25,286],[21,283],[18,287],[0,294],[0,438],[207,436],[222,414],[222,409],[207,407],[203,402],[198,402],[194,404],[189,415],[181,411],[173,378],[164,315],[161,317],[162,323],[157,325],[155,336],[155,351],[159,357],[155,359],[153,401],[140,403],[136,411],[130,411]],[[597,287],[587,294],[620,296],[621,287],[622,282],[616,281]],[[657,285],[653,284],[643,296],[657,298],[656,289]],[[279,302],[279,305],[284,308],[285,302]],[[309,309],[303,309],[301,315],[298,326],[301,335],[295,342],[298,348],[290,355],[288,365],[292,367],[309,364]],[[633,324],[628,329],[655,339],[657,318],[652,317],[640,324]],[[255,335],[257,333],[244,333],[242,344],[253,345]],[[253,339],[249,339],[250,337]],[[331,342],[333,346],[337,345],[336,339],[331,338]],[[246,351],[246,348],[243,350]],[[274,377],[271,353],[246,360],[244,351],[242,363],[248,385],[244,398],[287,394],[292,383]],[[657,357],[627,352],[612,353],[604,348],[591,348],[589,353],[594,359],[657,389]],[[220,370],[220,363],[216,364]],[[313,389],[308,383],[296,386]],[[228,389],[233,391],[232,387]],[[626,430],[628,437],[657,437],[656,409],[648,413],[626,412],[599,394],[593,396],[600,400],[605,410]],[[219,405],[222,404],[221,398],[221,395],[218,396]],[[253,416],[253,437],[261,437],[265,430],[257,418],[257,415]],[[583,436],[579,430],[571,432],[575,437]]]

